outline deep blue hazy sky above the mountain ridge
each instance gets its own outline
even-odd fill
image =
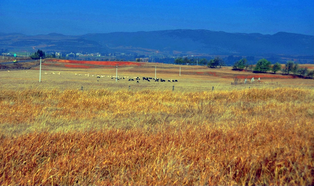
[[[0,32],[26,35],[167,29],[314,35],[314,1],[2,0]]]

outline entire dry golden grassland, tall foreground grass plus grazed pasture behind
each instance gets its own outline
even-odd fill
[[[143,80],[155,66],[166,82]],[[0,71],[0,185],[314,185],[313,79],[118,66],[137,83],[96,77],[113,66],[41,67],[41,82],[39,66]]]

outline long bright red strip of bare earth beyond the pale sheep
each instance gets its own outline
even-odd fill
[[[49,60],[63,63],[76,63],[76,64],[89,64],[89,65],[109,65],[109,66],[121,66],[121,65],[135,65],[141,66],[140,62],[132,61],[77,61],[77,60]]]

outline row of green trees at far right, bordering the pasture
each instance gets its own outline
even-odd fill
[[[290,72],[293,75],[298,75],[300,77],[313,78],[314,70],[310,71],[307,67],[300,68],[298,63],[293,61],[287,61],[285,66],[282,66],[280,63],[276,62],[274,65],[271,65],[271,62],[266,59],[260,59],[257,61],[255,67],[253,65],[248,65],[247,60],[241,59],[236,61],[233,65],[232,70],[252,70],[254,73],[266,73],[267,71],[272,71],[274,74],[278,71],[281,71],[282,74],[289,75]]]

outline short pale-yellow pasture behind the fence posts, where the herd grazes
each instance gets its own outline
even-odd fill
[[[133,62],[134,63],[134,62]],[[143,77],[162,78],[165,82],[150,82],[143,80]],[[311,68],[311,65],[308,65]],[[111,90],[129,89],[130,90],[172,90],[175,91],[208,91],[212,90],[233,90],[243,88],[313,88],[312,79],[293,78],[293,76],[277,74],[254,74],[246,71],[232,71],[231,67],[222,67],[219,69],[207,68],[205,66],[180,66],[160,64],[160,63],[138,63],[136,65],[118,66],[116,82],[116,66],[76,64],[67,62],[44,62],[41,66],[41,82],[39,82],[39,66],[29,70],[20,71],[0,71],[1,88],[5,89],[23,89],[23,88],[48,88],[48,89],[100,89]],[[51,74],[51,73],[54,74]],[[58,75],[58,73],[61,73]],[[77,74],[77,75],[75,75]],[[80,75],[79,75],[80,74]],[[86,76],[89,74],[89,77]],[[104,76],[97,78],[97,76]],[[111,76],[111,77],[108,77]],[[123,77],[125,77],[123,79]],[[128,77],[128,78],[126,78]],[[136,80],[133,77],[139,77]],[[244,81],[247,78],[247,84],[231,85],[234,78],[237,77]],[[250,83],[251,78],[255,82]],[[261,81],[257,82],[260,77]],[[128,81],[128,79],[134,81]],[[168,80],[177,80],[178,82],[168,82]],[[138,81],[138,83],[137,83]]]

